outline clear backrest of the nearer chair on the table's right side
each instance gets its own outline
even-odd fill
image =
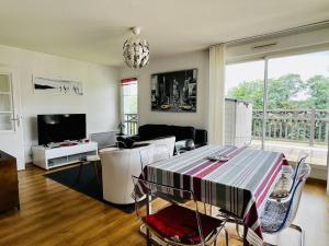
[[[290,196],[290,199],[286,201],[287,210],[285,218],[283,220],[282,225],[277,231],[281,231],[287,226],[290,226],[293,221],[295,220],[295,216],[298,211],[299,201],[303,192],[304,185],[307,180],[307,178],[310,175],[310,166],[308,164],[305,164],[303,166],[303,172],[300,173],[300,176],[298,177],[297,181],[295,183],[295,186],[293,188],[293,192]]]

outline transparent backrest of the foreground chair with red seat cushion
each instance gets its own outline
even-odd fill
[[[133,197],[135,199],[135,209],[138,219],[143,220],[149,214],[150,210],[152,213],[156,213],[170,204],[178,204],[181,207],[188,206],[190,210],[195,212],[195,222],[201,238],[201,245],[204,245],[197,202],[191,190],[178,189],[171,186],[147,181],[135,176],[132,176],[132,178],[134,181]],[[147,200],[149,202],[147,202]],[[167,239],[171,241],[171,238]]]

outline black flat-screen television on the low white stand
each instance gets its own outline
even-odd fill
[[[86,138],[86,114],[38,115],[38,144]]]

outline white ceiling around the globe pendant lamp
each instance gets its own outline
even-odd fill
[[[121,66],[134,25],[154,59],[324,20],[328,0],[0,0],[0,44]]]

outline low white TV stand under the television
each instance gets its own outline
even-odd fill
[[[79,162],[81,157],[98,154],[97,142],[82,142],[77,145],[48,148],[32,147],[33,163],[44,169],[50,169]]]

